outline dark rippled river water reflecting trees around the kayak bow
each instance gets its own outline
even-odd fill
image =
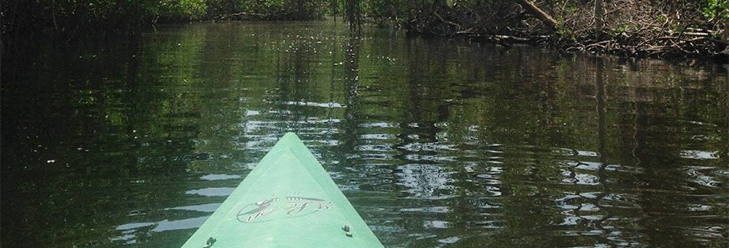
[[[386,247],[729,245],[720,65],[330,22],[36,51],[4,71],[5,247],[179,247],[284,132]]]

